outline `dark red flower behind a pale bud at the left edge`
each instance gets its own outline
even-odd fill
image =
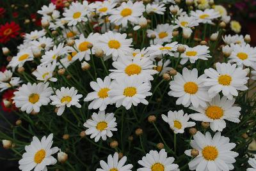
[[[14,96],[14,92],[16,90],[7,90],[4,92],[2,100],[1,100],[1,107],[5,112],[12,112],[12,110],[17,110],[17,107],[15,107],[15,104],[12,103],[13,100],[13,96]]]

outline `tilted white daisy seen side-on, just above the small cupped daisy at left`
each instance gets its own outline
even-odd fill
[[[71,47],[64,47],[64,43],[60,43],[58,47],[54,45],[52,50],[46,51],[45,54],[42,56],[42,59],[40,60],[42,64],[40,65],[49,64],[51,62],[56,63],[58,57],[67,54],[67,52],[70,52],[70,50]]]

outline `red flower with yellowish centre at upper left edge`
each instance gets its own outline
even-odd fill
[[[15,22],[6,22],[0,26],[0,43],[6,43],[11,38],[16,38],[19,35],[20,26]]]

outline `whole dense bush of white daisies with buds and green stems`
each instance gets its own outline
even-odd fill
[[[255,96],[249,98],[248,89],[256,78],[256,48],[249,35],[225,34],[229,23],[235,33],[241,28],[223,6],[208,0],[52,1],[38,14],[42,29],[24,34],[8,70],[0,72],[1,91],[15,89],[8,101],[29,125],[20,127],[29,136],[21,132],[15,142],[26,151],[20,170],[65,170],[53,157],[58,151],[58,161],[71,170],[248,165],[236,162],[239,149],[247,151],[236,145],[248,145],[239,135],[250,134],[248,142],[254,137]],[[52,148],[53,134],[58,147]],[[31,144],[20,148],[30,135]],[[6,147],[10,140],[3,141]],[[249,164],[255,167],[252,158]]]

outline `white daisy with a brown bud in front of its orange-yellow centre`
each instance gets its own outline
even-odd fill
[[[90,60],[90,55],[95,54],[95,45],[99,39],[99,33],[90,33],[87,38],[84,38],[84,34],[81,34],[78,40],[75,40],[75,48],[77,50],[77,54],[73,57],[72,60],[82,61],[85,59],[86,61]],[[87,46],[92,44],[92,49],[88,48]],[[91,52],[92,50],[92,52]]]

